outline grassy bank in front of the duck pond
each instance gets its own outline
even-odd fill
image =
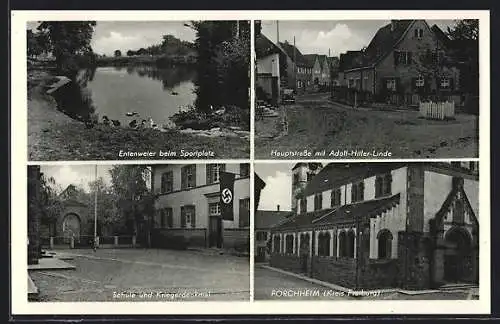
[[[235,137],[200,137],[175,130],[159,132],[152,129],[134,130],[85,124],[57,110],[44,86],[51,76],[43,71],[28,72],[28,159],[43,160],[121,160],[121,159],[187,159],[187,158],[248,158],[247,139]],[[180,156],[181,151],[212,151],[213,156]],[[122,156],[124,152],[155,152],[154,156]],[[159,152],[174,152],[175,156],[160,157]]]

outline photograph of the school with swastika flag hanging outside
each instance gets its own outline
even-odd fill
[[[28,300],[248,301],[249,172],[28,166]]]

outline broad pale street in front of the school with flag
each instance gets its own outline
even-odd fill
[[[57,250],[76,270],[30,271],[39,301],[221,301],[250,298],[249,261],[158,249]]]

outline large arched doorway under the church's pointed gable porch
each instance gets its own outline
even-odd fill
[[[448,282],[470,281],[473,276],[472,239],[467,230],[454,227],[444,237],[444,280]]]

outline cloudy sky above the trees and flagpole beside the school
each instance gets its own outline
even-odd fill
[[[111,168],[111,165],[97,166],[97,177],[102,177],[108,185],[111,185]],[[59,190],[73,184],[88,191],[88,183],[95,180],[95,165],[42,165],[40,171],[46,177],[53,177]]]

